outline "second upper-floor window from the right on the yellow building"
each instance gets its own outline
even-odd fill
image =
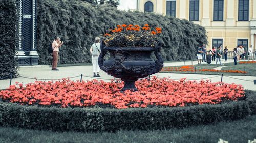
[[[214,21],[223,21],[223,0],[214,0]]]

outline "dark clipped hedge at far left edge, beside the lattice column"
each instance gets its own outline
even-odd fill
[[[16,1],[0,1],[0,79],[17,74],[16,50]]]

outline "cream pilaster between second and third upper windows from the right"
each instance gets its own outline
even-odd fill
[[[203,3],[202,26],[210,26],[210,0],[201,1]]]

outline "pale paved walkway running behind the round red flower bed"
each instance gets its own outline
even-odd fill
[[[164,65],[179,66],[179,65],[184,65],[184,62],[164,63]],[[40,65],[20,67],[19,74],[22,77],[12,79],[12,84],[15,84],[15,82],[20,82],[24,84],[31,83],[35,81],[34,78],[37,78],[38,81],[49,81],[49,80],[51,81],[52,79],[61,79],[61,78],[67,78],[67,77],[73,77],[71,78],[71,80],[80,80],[81,74],[83,74],[83,77],[82,77],[83,80],[94,79],[93,73],[92,73],[92,66],[59,67],[58,69],[59,71],[52,71],[49,66],[40,66]],[[100,75],[101,75],[100,79],[104,81],[110,81],[111,79],[114,79],[114,77],[106,74],[103,71],[100,71]],[[188,80],[197,80],[197,81],[200,81],[201,79],[205,79],[205,80],[211,79],[212,82],[221,81],[221,76],[216,76],[216,75],[157,73],[155,74],[155,76],[170,77],[171,79],[175,79],[175,80],[179,80],[180,78],[187,78]],[[254,85],[253,80],[256,80],[256,77],[224,76],[222,81],[226,83],[241,84],[244,86],[245,89],[256,90],[256,85]],[[9,84],[10,84],[10,79],[0,80],[0,89],[7,88]]]

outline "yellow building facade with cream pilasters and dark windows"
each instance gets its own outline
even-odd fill
[[[155,12],[193,21],[206,28],[207,50],[223,44],[255,51],[256,0],[138,0],[141,12]]]

